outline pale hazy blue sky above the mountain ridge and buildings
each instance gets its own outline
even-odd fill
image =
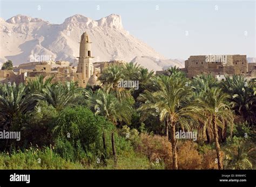
[[[0,17],[5,20],[21,14],[61,24],[76,14],[98,20],[115,13],[125,30],[172,59],[200,54],[256,57],[255,9],[253,0],[0,0]]]

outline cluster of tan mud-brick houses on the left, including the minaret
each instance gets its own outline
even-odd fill
[[[16,84],[35,80],[43,76],[44,80],[53,77],[52,82],[78,82],[79,87],[100,85],[98,80],[104,69],[110,65],[123,65],[125,61],[113,60],[94,63],[91,40],[86,32],[80,39],[77,66],[69,61],[39,61],[21,64],[14,70],[0,70],[0,83]]]

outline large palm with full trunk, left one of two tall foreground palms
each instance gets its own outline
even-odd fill
[[[139,96],[139,99],[147,98],[145,103],[139,110],[155,109],[159,111],[160,121],[166,124],[166,135],[171,127],[171,144],[172,144],[172,167],[178,169],[177,162],[177,140],[176,126],[182,117],[190,115],[188,111],[188,101],[191,96],[192,89],[186,84],[187,79],[180,75],[171,75],[171,77],[159,76],[154,78],[154,85],[158,91],[144,93]]]

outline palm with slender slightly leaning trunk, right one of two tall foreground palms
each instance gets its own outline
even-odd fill
[[[223,128],[224,119],[231,123],[233,122],[233,114],[226,105],[227,98],[228,95],[223,93],[221,88],[212,87],[204,94],[201,94],[193,103],[193,105],[196,106],[194,111],[201,114],[201,117],[204,117],[206,123],[212,124],[219,169],[223,169],[223,162],[221,158],[218,127]]]

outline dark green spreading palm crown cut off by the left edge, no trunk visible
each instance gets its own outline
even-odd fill
[[[4,84],[0,89],[0,118],[2,128],[8,130],[15,117],[31,111],[42,96],[28,93],[28,87],[23,84],[12,86]]]

